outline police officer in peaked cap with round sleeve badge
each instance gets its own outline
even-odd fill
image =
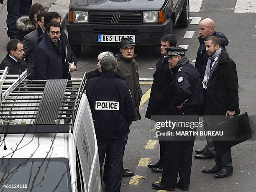
[[[199,72],[184,56],[187,49],[169,47],[166,51],[173,73],[168,91],[169,115],[199,115],[204,102]],[[188,190],[193,146],[193,137],[190,141],[166,141],[161,183],[153,183],[153,188],[173,191],[178,187]],[[180,180],[177,183],[178,174]]]

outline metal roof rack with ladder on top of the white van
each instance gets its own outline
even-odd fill
[[[0,71],[0,133],[69,133],[70,128],[73,132],[86,73],[76,80],[29,80],[27,72],[6,72]]]

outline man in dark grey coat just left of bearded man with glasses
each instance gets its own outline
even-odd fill
[[[33,79],[35,73],[34,57],[36,53],[37,40],[38,37],[44,34],[46,30],[44,26],[44,18],[47,16],[47,14],[49,13],[46,11],[39,12],[36,15],[38,27],[36,28],[36,30],[24,36],[23,46],[25,51],[24,57],[26,58],[26,63],[23,67],[29,69],[30,79]]]

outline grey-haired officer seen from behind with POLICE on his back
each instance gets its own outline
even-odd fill
[[[103,57],[100,64],[102,75],[88,80],[85,89],[95,123],[100,170],[106,155],[103,179],[106,190],[119,192],[123,136],[133,121],[134,104],[127,82],[114,74],[117,67],[114,56]]]

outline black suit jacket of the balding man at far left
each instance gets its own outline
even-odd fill
[[[22,74],[20,62],[16,62],[9,54],[7,54],[5,59],[1,62],[0,70],[4,70],[6,66],[8,66],[8,74]]]

